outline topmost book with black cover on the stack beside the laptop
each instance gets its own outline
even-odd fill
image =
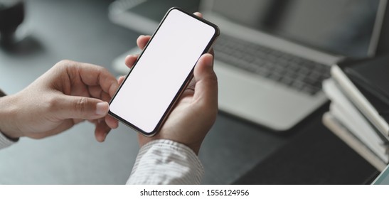
[[[389,59],[389,57],[387,58]],[[355,73],[358,71],[359,76],[363,77],[363,81],[369,81],[375,77],[372,75],[374,74],[373,72],[382,72],[377,66],[378,63],[381,63],[384,60],[386,60],[386,58],[379,59],[380,62],[377,62],[375,59],[368,59],[359,62],[339,63],[331,67],[331,76],[339,84],[339,87],[341,87],[341,90],[345,93],[345,95],[347,95],[348,99],[350,99],[351,102],[358,108],[358,110],[361,111],[364,117],[366,117],[366,119],[368,119],[368,121],[371,122],[371,124],[373,124],[376,129],[378,129],[378,132],[382,136],[389,140],[389,124],[388,121],[383,117],[383,113],[385,113],[387,110],[385,107],[385,102],[383,102],[383,100],[378,100],[378,97],[375,97],[373,94],[374,92],[366,91],[366,86],[363,85],[363,83],[359,82],[358,86],[354,83],[358,82],[358,78],[361,77],[356,78],[355,74],[349,75],[350,73]],[[372,70],[369,75],[363,73],[363,70],[366,70],[367,67],[369,67],[369,70]],[[350,68],[353,68],[353,72],[350,72]],[[360,70],[361,72],[359,72]],[[387,82],[389,82],[389,78]],[[374,87],[375,92],[380,92],[379,90],[383,89],[382,86],[375,85],[375,82],[373,81],[371,81],[371,84],[368,87]],[[380,95],[380,97],[383,96],[385,95]],[[375,104],[375,106],[373,104]],[[386,105],[389,108],[389,104]],[[376,108],[379,108],[379,110]]]

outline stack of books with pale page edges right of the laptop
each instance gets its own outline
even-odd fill
[[[389,163],[389,56],[333,65],[323,123],[378,171]]]

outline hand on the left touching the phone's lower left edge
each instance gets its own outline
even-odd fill
[[[10,138],[41,139],[89,120],[97,141],[104,141],[117,127],[105,117],[118,86],[105,68],[60,61],[21,92],[0,98],[0,131]]]

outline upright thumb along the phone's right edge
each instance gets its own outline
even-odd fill
[[[213,55],[206,53],[198,60],[194,72],[196,80],[195,99],[218,107],[218,79],[213,71]]]

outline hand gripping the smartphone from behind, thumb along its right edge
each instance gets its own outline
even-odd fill
[[[137,45],[143,49],[150,36],[139,36]],[[125,63],[130,68],[137,55],[127,56]],[[170,139],[189,146],[196,154],[201,143],[213,126],[218,113],[218,80],[213,71],[213,55],[202,55],[193,72],[193,80],[183,92],[161,130],[152,137],[138,135],[143,146],[155,139]],[[122,82],[124,77],[119,78]]]

